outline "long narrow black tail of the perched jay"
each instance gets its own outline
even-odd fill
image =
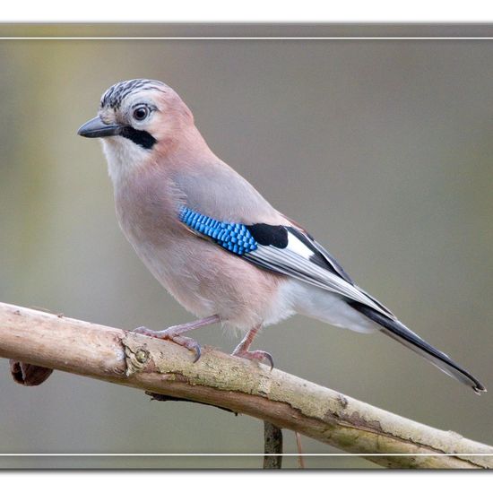
[[[389,337],[392,337],[395,341],[401,342],[401,344],[410,350],[417,352],[423,358],[428,359],[431,364],[441,369],[447,375],[452,376],[455,380],[472,387],[472,390],[476,394],[486,392],[485,386],[482,385],[477,378],[472,376],[464,368],[457,365],[457,363],[450,359],[445,353],[437,350],[428,344],[428,342],[421,339],[418,334],[410,331],[398,320],[392,320],[391,318],[380,314],[373,308],[363,305],[358,301],[348,301],[348,303],[351,307],[358,310],[359,313],[364,316],[368,316],[370,320],[373,320],[373,322],[379,324],[382,327],[381,331],[383,333],[387,334]]]

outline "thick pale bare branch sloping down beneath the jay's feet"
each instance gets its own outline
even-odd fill
[[[367,458],[385,467],[493,468],[493,457],[474,455],[493,454],[489,445],[211,348],[193,363],[173,342],[0,303],[0,357],[212,404],[346,452],[379,454]]]

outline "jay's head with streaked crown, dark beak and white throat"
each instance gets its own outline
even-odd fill
[[[194,126],[194,118],[175,91],[160,81],[117,82],[101,97],[98,116],[79,128],[82,137],[99,137],[112,177],[155,161]]]

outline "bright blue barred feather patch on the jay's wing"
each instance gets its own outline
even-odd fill
[[[223,222],[195,212],[182,205],[179,220],[188,228],[212,238],[218,245],[237,255],[245,255],[258,248],[252,233],[245,224]]]

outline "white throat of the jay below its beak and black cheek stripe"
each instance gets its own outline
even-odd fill
[[[126,181],[134,171],[142,168],[151,158],[151,152],[125,137],[101,139],[108,161],[108,174],[114,186]]]

